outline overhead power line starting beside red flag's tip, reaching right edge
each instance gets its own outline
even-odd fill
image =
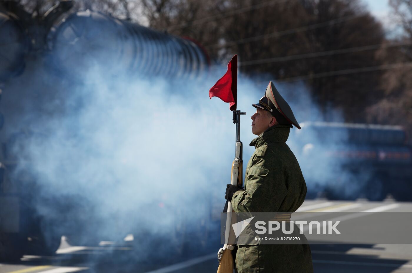
[[[400,47],[400,46],[405,46],[405,45],[412,45],[412,42],[366,45],[363,47],[349,47],[349,48],[344,48],[344,49],[334,49],[334,50],[321,51],[321,52],[311,52],[311,53],[306,53],[306,54],[297,54],[297,55],[290,55],[290,56],[283,56],[283,57],[242,61],[242,62],[239,62],[238,66],[250,66],[250,65],[255,65],[255,64],[270,64],[270,63],[276,63],[280,61],[291,61],[291,60],[308,59],[308,58],[322,57],[322,56],[332,56],[332,55],[337,55],[337,54],[361,52],[361,51],[379,49],[379,48]]]

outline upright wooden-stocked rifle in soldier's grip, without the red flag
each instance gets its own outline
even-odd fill
[[[230,184],[243,186],[243,144],[240,141],[240,115],[246,113],[240,110],[233,111],[233,123],[236,125],[236,152],[232,163],[232,175],[230,177]],[[227,212],[226,228],[225,228],[225,245],[218,251],[219,267],[217,273],[233,273],[234,261],[232,250],[235,246],[236,236],[234,234],[232,224],[236,223],[236,214],[233,212],[232,204],[229,200],[226,201],[224,211]]]

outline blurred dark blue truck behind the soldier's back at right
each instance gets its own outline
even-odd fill
[[[412,148],[403,127],[303,122],[294,133],[308,198],[412,200]]]

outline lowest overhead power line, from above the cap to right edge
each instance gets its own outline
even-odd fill
[[[324,77],[337,76],[337,75],[347,75],[347,74],[353,74],[353,73],[371,72],[371,71],[379,71],[379,70],[387,70],[387,69],[395,69],[395,68],[403,68],[403,67],[412,68],[412,62],[398,63],[398,64],[384,64],[380,66],[369,66],[369,67],[362,67],[362,68],[351,68],[351,69],[344,69],[344,70],[337,70],[337,71],[329,71],[329,72],[281,79],[281,80],[278,80],[278,82],[296,82],[299,80],[310,80],[310,79],[315,79],[315,78],[324,78]]]

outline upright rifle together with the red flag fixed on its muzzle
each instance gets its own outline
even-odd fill
[[[242,143],[240,141],[240,115],[244,115],[240,110],[236,110],[237,96],[237,55],[234,55],[232,60],[227,64],[227,72],[218,82],[209,90],[209,97],[217,96],[222,101],[229,102],[229,109],[233,111],[233,123],[236,124],[236,154],[232,164],[232,177],[230,184],[242,186]],[[236,214],[233,213],[232,204],[227,201],[227,217],[225,230],[225,245],[219,249],[218,273],[233,273],[233,256],[232,250],[236,236],[234,234],[232,224],[236,223]],[[226,207],[225,207],[226,208]]]

